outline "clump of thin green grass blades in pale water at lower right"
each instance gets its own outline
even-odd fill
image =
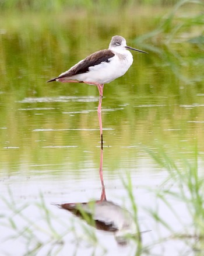
[[[192,250],[201,252],[204,238],[204,177],[198,168],[199,153],[197,147],[195,147],[192,159],[181,157],[180,162],[175,162],[161,148],[157,153],[151,150],[147,151],[157,164],[168,172],[166,180],[155,191],[156,201],[166,205],[178,223],[181,224],[182,230],[179,232],[175,230],[166,216],[161,216],[157,210],[147,207],[147,212],[157,223],[170,230],[171,236],[165,240],[171,238],[184,240],[188,245],[191,245]],[[184,207],[177,209],[173,202],[179,202]],[[185,209],[185,212],[180,212],[179,209]],[[186,222],[186,218],[188,222]]]

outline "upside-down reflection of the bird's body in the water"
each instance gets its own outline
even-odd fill
[[[96,229],[115,233],[115,238],[119,244],[126,244],[125,236],[136,233],[131,213],[111,201],[64,203],[58,206],[85,219],[88,224],[96,227]]]

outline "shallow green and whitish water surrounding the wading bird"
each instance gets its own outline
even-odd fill
[[[107,34],[103,45],[100,37],[90,41],[90,48],[84,35],[84,41],[80,41],[83,47],[77,54],[74,52],[79,45],[73,47],[71,36],[59,39],[61,44],[66,43],[67,49],[73,48],[72,53],[68,51],[66,54],[62,50],[66,48],[64,44],[58,53],[55,51],[55,37],[51,32],[47,33],[50,37],[44,43],[43,36],[38,34],[37,46],[29,40],[30,34],[27,38],[12,32],[10,36],[9,33],[3,34],[1,51],[8,56],[5,70],[12,72],[9,81],[3,77],[1,82],[0,191],[5,202],[13,206],[16,204],[18,209],[14,214],[15,210],[2,201],[2,215],[9,216],[6,223],[11,223],[13,218],[17,226],[3,227],[5,237],[18,234],[18,238],[13,242],[13,249],[9,248],[10,240],[7,239],[0,248],[2,253],[8,252],[8,255],[12,255],[16,247],[19,255],[31,250],[32,244],[27,245],[29,239],[20,231],[24,225],[29,226],[42,243],[37,255],[47,255],[49,250],[54,255],[57,248],[60,248],[59,255],[67,255],[66,250],[69,250],[69,255],[90,255],[94,250],[96,255],[134,255],[135,243],[120,247],[112,234],[103,231],[96,231],[96,240],[86,238],[86,229],[89,228],[86,224],[75,219],[71,213],[51,205],[100,199],[99,96],[94,86],[57,82],[46,84],[46,81],[94,50],[107,47],[112,34]],[[63,34],[64,27],[58,33]],[[115,31],[117,33],[119,31]],[[24,45],[17,40],[19,37],[24,39]],[[127,40],[129,45],[136,47],[133,41],[129,43],[131,39]],[[12,51],[10,47],[13,47]],[[141,49],[141,46],[138,48]],[[180,46],[178,52],[182,56]],[[12,59],[13,54],[16,61]],[[169,51],[166,54],[171,56]],[[135,61],[125,76],[104,87],[101,116],[104,131],[103,178],[107,199],[132,212],[122,182],[130,175],[141,231],[152,230],[142,234],[143,245],[148,246],[146,254],[181,255],[181,251],[191,248],[184,240],[175,241],[173,238],[157,244],[160,239],[171,236],[171,232],[158,224],[145,209],[159,207],[159,213],[174,231],[183,233],[185,224],[191,222],[184,203],[173,202],[178,212],[182,212],[184,223],[180,223],[164,203],[157,201],[154,189],[168,178],[168,173],[150,153],[157,154],[164,150],[174,162],[179,162],[181,159],[193,161],[197,150],[198,169],[202,172],[204,87],[203,74],[197,65],[201,63],[199,54],[200,49],[189,46],[189,59],[185,56],[189,73],[182,70],[182,76],[188,82],[177,77],[172,65],[157,54],[133,53]],[[171,61],[174,59],[171,58]],[[177,61],[170,64],[177,65]],[[50,214],[50,226],[42,210],[44,208],[40,206],[41,195]],[[20,216],[19,212],[29,220]],[[53,244],[57,239],[55,232],[64,235],[59,243]]]

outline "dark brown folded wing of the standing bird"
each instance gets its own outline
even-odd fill
[[[114,57],[115,54],[111,50],[101,50],[96,51],[96,53],[91,54],[90,56],[86,57],[83,61],[79,62],[71,70],[66,72],[65,74],[59,75],[57,78],[53,78],[48,82],[55,81],[58,78],[64,77],[72,77],[73,75],[78,75],[82,73],[86,73],[89,71],[90,67],[94,67],[95,65],[99,65],[102,62],[109,62],[110,58]]]

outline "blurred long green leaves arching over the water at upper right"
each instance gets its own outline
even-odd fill
[[[163,65],[170,67],[175,76],[185,84],[196,83],[200,79],[189,72],[192,65],[201,61],[203,51],[204,18],[199,7],[204,7],[202,0],[177,1],[173,8],[159,19],[156,28],[135,39],[135,43],[143,44],[146,49],[157,54]],[[194,64],[186,57],[191,55],[189,49],[192,47],[195,49]]]

